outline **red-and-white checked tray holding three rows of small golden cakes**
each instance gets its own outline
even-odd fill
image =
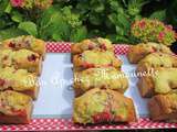
[[[0,130],[176,128],[176,67],[169,47],[153,42],[6,40]]]

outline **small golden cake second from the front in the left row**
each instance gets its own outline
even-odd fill
[[[0,91],[9,89],[37,99],[39,92],[38,77],[25,69],[0,68]]]

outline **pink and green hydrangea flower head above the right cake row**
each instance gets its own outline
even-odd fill
[[[142,19],[132,24],[131,33],[143,42],[157,42],[171,45],[176,41],[176,33],[171,25],[165,25],[157,20]]]

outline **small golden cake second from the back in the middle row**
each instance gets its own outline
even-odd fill
[[[73,57],[74,69],[83,70],[87,68],[115,67],[121,69],[122,61],[113,52],[85,51]]]

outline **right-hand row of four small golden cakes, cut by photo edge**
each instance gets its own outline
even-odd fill
[[[167,46],[156,43],[132,46],[127,57],[137,64],[137,86],[142,97],[150,98],[150,118],[177,122],[177,57]]]

